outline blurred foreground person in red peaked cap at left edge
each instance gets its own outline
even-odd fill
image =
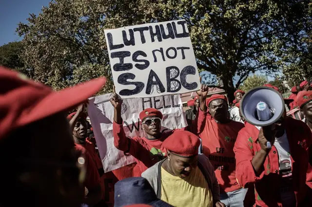
[[[105,81],[56,93],[0,67],[0,207],[80,207],[85,158],[75,151],[66,113]]]

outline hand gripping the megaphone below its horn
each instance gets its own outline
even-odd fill
[[[259,135],[258,135],[258,141],[261,146],[261,149],[264,151],[270,151],[274,141],[275,141],[275,130],[274,125],[262,127]]]

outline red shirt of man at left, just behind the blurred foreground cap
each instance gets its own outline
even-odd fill
[[[86,168],[86,177],[84,180],[84,186],[87,189],[95,188],[99,185],[99,175],[98,175],[98,169],[95,165],[95,163],[92,160],[92,157],[88,153],[88,151],[81,145],[75,144],[75,149],[77,151],[80,151],[81,154],[84,156],[84,166]]]

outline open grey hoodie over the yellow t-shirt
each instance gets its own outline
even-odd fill
[[[161,164],[166,159],[157,162],[154,166],[145,170],[141,175],[151,184],[158,199],[160,199],[161,197],[161,173],[160,173]],[[209,159],[204,154],[198,154],[198,168],[206,178],[208,188],[212,192],[213,201],[215,204],[215,202],[220,200],[219,185],[215,177],[215,169],[213,165],[210,163]]]

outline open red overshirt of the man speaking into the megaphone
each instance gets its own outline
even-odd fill
[[[309,165],[308,147],[312,143],[312,133],[302,121],[286,117],[286,134],[290,146],[292,161],[292,188],[297,205],[306,196],[306,177]],[[242,187],[254,184],[255,204],[261,207],[282,207],[280,199],[280,175],[278,152],[272,146],[264,161],[262,172],[255,175],[252,159],[261,150],[258,143],[259,130],[246,123],[237,136],[234,146],[236,158],[236,178]]]

